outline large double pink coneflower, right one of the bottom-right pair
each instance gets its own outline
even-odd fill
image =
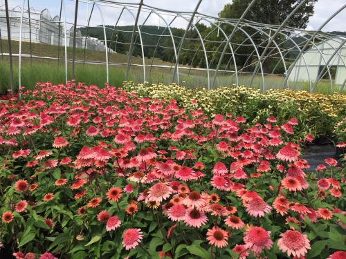
[[[277,241],[277,246],[283,252],[287,251],[287,255],[305,256],[307,249],[311,249],[310,242],[307,235],[302,235],[296,230],[287,230],[285,233],[280,234],[282,238]]]

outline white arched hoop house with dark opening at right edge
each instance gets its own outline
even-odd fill
[[[343,43],[344,40],[343,37],[332,37],[304,52],[295,63],[289,75],[289,81],[316,81],[322,68],[327,64],[334,84],[344,84],[346,79],[346,46]],[[336,52],[341,44],[343,46]],[[325,75],[328,75],[327,69],[324,70],[322,77]]]

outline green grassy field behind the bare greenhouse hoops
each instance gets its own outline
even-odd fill
[[[30,44],[28,42],[22,42],[22,54],[39,57],[49,57],[47,59],[42,58],[30,58],[22,57],[21,59],[21,86],[25,86],[26,89],[33,89],[37,81],[51,81],[53,84],[66,81],[65,75],[65,62],[64,62],[64,47],[60,46],[60,60],[57,60],[58,50],[57,46],[48,44]],[[1,53],[8,52],[8,41],[2,40]],[[19,53],[19,41],[12,41],[12,53]],[[9,58],[6,55],[1,55],[0,63],[0,93],[5,92],[10,88],[10,66]],[[67,59],[72,59],[72,48],[67,48]],[[82,62],[84,59],[84,49],[76,48],[75,52],[76,61]],[[114,86],[122,86],[122,81],[126,78],[127,73],[127,55],[118,53],[109,54],[109,84]],[[95,50],[85,51],[85,61],[87,62],[104,62],[106,61],[105,53]],[[170,84],[173,81],[172,75],[174,68],[171,68],[170,62],[164,62],[161,59],[155,58],[145,59],[145,77],[143,75],[143,59],[141,57],[132,57],[132,64],[129,70],[128,80],[134,81],[136,84],[143,81],[149,81],[149,84],[158,84],[164,82]],[[153,63],[153,67],[149,65]],[[167,66],[155,67],[155,66]],[[104,86],[107,81],[106,66],[104,64],[75,64],[75,79],[76,81],[84,81],[86,84],[96,84],[100,87]],[[19,59],[13,57],[13,74],[15,88],[19,86]],[[214,77],[214,72],[210,71],[210,81]],[[71,62],[68,63],[68,79],[71,79]],[[179,66],[179,79],[181,85],[188,87],[203,86],[208,87],[208,75],[203,70],[189,70],[183,69]],[[176,81],[176,78],[175,80]],[[251,82],[251,75],[242,73],[238,76],[239,84],[249,86]],[[284,77],[277,75],[266,75],[264,77],[264,90],[270,88],[282,88]],[[219,72],[215,81],[215,86],[229,86],[236,83],[234,74]],[[255,76],[251,84],[254,88],[263,88],[262,77],[260,75]],[[313,86],[313,84],[312,84]],[[289,82],[289,87],[293,90],[307,90],[309,91],[308,82]],[[339,90],[340,86],[334,86],[331,89],[329,81],[322,79],[316,88],[319,93],[331,94],[334,91]],[[346,93],[346,89],[343,90]]]

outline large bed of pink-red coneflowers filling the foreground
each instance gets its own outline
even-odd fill
[[[307,173],[297,119],[180,104],[50,83],[0,104],[1,242],[17,258],[345,257],[345,169]]]

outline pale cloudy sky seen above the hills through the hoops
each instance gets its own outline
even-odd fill
[[[25,8],[27,9],[27,0]],[[23,6],[23,0],[9,0],[10,9],[15,8],[15,6]],[[134,16],[136,16],[136,9],[138,8],[139,0],[123,0],[126,3],[133,3],[133,6],[129,6],[129,10],[125,10],[120,17],[118,22],[119,26],[129,25],[134,23]],[[212,17],[217,17],[218,13],[224,8],[226,3],[230,3],[230,0],[203,0],[199,6],[198,12],[204,15],[210,15]],[[0,0],[0,6],[4,8],[4,0]],[[35,8],[36,10],[43,10],[47,8],[51,13],[52,17],[59,15],[60,13],[60,0],[30,0],[30,8]],[[140,16],[140,24],[147,19],[149,15],[149,7],[153,6],[155,8],[162,8],[163,10],[172,10],[179,12],[192,12],[196,8],[198,0],[144,0],[146,6],[143,7],[143,12]],[[322,23],[324,23],[331,15],[337,10],[345,6],[346,0],[318,0],[315,5],[315,14],[310,18],[307,29],[317,30],[320,28]],[[73,14],[75,12],[75,1],[65,0],[66,6],[66,21],[73,23]],[[88,8],[89,7],[89,8]],[[100,6],[102,14],[104,17],[105,24],[114,25],[120,15],[122,6]],[[91,11],[91,5],[86,5],[85,1],[80,0],[80,8],[78,10],[78,24],[86,26],[88,21],[88,11]],[[146,12],[147,11],[147,12]],[[163,14],[163,18],[170,23],[174,17],[176,17],[176,12],[167,14],[165,12],[160,12]],[[346,31],[346,8],[336,15],[327,25],[322,29],[324,31]],[[62,13],[62,18],[64,18],[64,12]],[[90,21],[91,26],[96,26],[102,24],[102,19],[100,16],[100,11],[95,8]],[[150,15],[147,19],[147,25],[165,26],[163,19],[159,19],[157,15]],[[174,19],[172,27],[185,28],[187,26],[187,21],[181,17]]]

